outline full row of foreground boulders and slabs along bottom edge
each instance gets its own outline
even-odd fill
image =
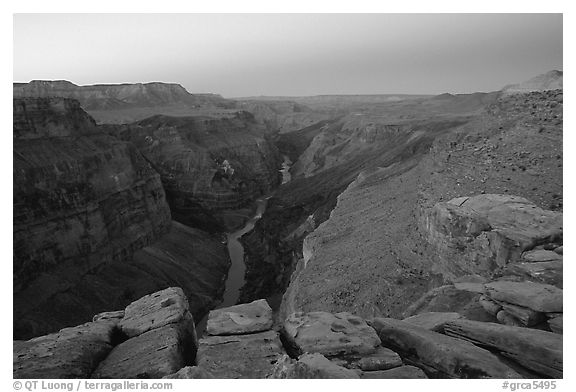
[[[211,317],[258,318],[258,306],[245,305]],[[236,325],[219,324],[221,335],[197,341],[189,308],[182,289],[168,288],[122,311],[98,314],[97,321],[15,341],[14,377],[519,378],[562,372],[562,336],[551,332],[450,317],[443,323],[446,336],[400,320],[367,324],[349,313],[313,312],[286,320],[282,337],[271,329],[238,334]]]

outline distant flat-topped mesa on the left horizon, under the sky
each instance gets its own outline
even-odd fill
[[[217,94],[190,94],[179,84],[160,82],[77,86],[65,80],[33,80],[14,83],[13,95],[74,98],[99,123],[127,123],[155,114],[190,115],[235,106]]]

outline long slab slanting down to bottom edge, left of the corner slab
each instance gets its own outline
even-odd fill
[[[448,325],[448,324],[447,324]],[[405,321],[376,318],[382,345],[437,378],[521,378],[497,356],[470,342]]]

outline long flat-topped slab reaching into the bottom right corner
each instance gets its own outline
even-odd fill
[[[449,336],[496,349],[527,369],[562,378],[562,335],[470,320],[455,320],[444,328]]]

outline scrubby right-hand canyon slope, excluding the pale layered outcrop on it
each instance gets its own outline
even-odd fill
[[[426,215],[438,202],[483,193],[562,209],[561,91],[502,97],[437,138],[421,160],[361,173],[304,240],[283,313],[401,317],[431,286],[462,275],[470,257],[466,246],[431,238]]]

